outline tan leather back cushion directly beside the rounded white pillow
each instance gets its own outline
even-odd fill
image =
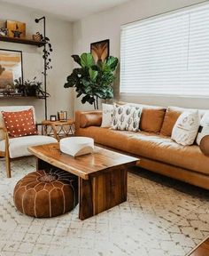
[[[162,128],[160,130],[161,135],[171,137],[174,124],[176,123],[177,119],[182,114],[182,112],[182,108],[168,107],[166,109],[166,115],[162,124]]]

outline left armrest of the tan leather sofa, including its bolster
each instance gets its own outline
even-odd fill
[[[75,132],[80,128],[100,126],[102,124],[102,111],[75,111]]]

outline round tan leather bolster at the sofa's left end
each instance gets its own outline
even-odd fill
[[[83,112],[80,116],[80,127],[100,126],[102,124],[102,111]]]

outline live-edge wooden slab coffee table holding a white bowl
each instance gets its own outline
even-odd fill
[[[73,157],[62,153],[58,143],[28,150],[37,157],[37,170],[57,167],[78,176],[80,220],[127,200],[127,167],[139,160],[100,147],[93,154]]]

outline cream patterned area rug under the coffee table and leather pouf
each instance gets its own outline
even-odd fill
[[[209,235],[209,193],[139,169],[128,173],[128,202],[81,221],[73,212],[35,219],[16,211],[16,182],[35,171],[33,157],[0,160],[0,255],[183,256]]]

